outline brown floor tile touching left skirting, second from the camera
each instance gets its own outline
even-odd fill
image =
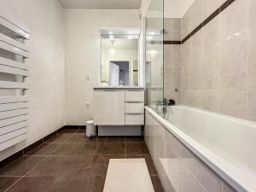
[[[48,155],[60,147],[60,145],[61,143],[42,143],[38,147],[28,151],[26,155]]]

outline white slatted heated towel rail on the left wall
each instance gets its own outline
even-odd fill
[[[29,40],[26,30],[0,16],[0,151],[27,138],[29,67],[26,61],[29,49],[26,40]],[[14,56],[8,58],[3,52]],[[20,59],[15,59],[18,57]],[[1,79],[1,75],[6,74],[17,80]],[[6,90],[14,91],[3,94]]]

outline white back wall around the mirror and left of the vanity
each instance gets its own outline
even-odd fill
[[[67,125],[84,125],[93,117],[93,86],[101,80],[99,27],[137,27],[140,21],[137,10],[66,9],[65,23]]]

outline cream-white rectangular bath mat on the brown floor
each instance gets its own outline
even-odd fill
[[[145,159],[111,159],[103,192],[154,192]]]

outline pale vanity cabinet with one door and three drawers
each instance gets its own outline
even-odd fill
[[[95,89],[95,125],[144,125],[144,90]]]

